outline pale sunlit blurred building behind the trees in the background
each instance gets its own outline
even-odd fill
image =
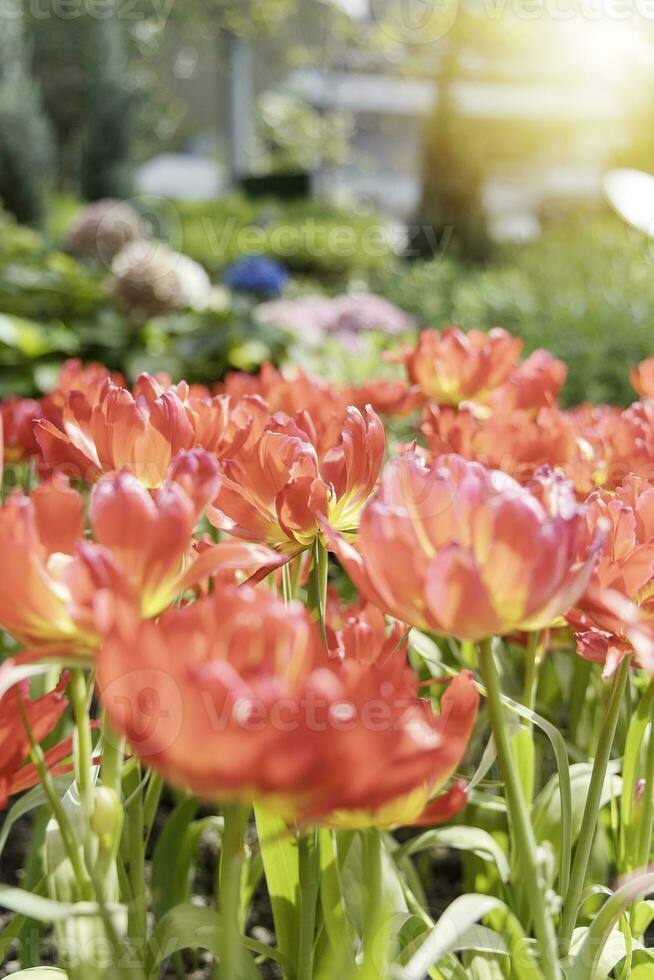
[[[380,0],[338,2],[356,17],[359,36],[378,27]],[[595,35],[587,36],[586,24],[586,33],[575,33],[575,24],[554,26],[560,45],[557,56],[538,62],[519,52],[501,60],[472,48],[460,52],[451,95],[471,132],[489,134],[493,154],[483,197],[500,237],[533,233],[543,209],[598,197],[601,175],[625,138],[624,86],[593,47]],[[604,33],[602,37],[606,39]],[[251,47],[241,59],[236,84],[237,97],[246,86],[241,128],[244,106],[249,104],[253,114],[258,97],[271,89],[298,96],[319,113],[345,113],[350,119],[348,158],[320,168],[320,191],[340,201],[363,199],[400,217],[410,216],[420,196],[423,128],[439,99],[442,43],[425,45],[417,65],[411,52],[409,67],[383,50],[371,53],[362,44],[321,39],[320,24],[289,26],[288,43],[293,42],[313,45],[313,63],[289,68],[270,42]],[[591,60],[597,62],[597,70],[586,70]],[[208,150],[222,146],[224,151],[229,143],[233,63],[217,40],[202,42],[192,51],[173,44],[162,58],[171,94],[187,105],[187,145],[205,159],[202,174],[197,161],[193,164],[198,179],[184,182],[187,193],[204,190],[212,180],[217,189],[228,184],[228,154],[223,152],[217,166],[215,154]],[[169,163],[175,167],[180,161]]]

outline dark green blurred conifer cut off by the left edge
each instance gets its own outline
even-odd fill
[[[50,132],[30,77],[23,15],[0,0],[0,202],[26,224],[43,216]]]

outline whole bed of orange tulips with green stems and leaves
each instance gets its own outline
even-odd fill
[[[654,978],[654,358],[416,336],[0,402],[0,976]]]

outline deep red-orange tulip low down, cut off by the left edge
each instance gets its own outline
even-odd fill
[[[5,662],[0,668],[0,674],[7,666]],[[67,701],[63,692],[67,682],[66,675],[62,675],[54,691],[34,701],[29,698],[27,681],[11,687],[0,697],[0,810],[4,809],[13,793],[29,789],[39,781],[36,766],[25,762],[30,752],[30,742],[23,724],[20,702],[34,740],[42,742],[66,710]],[[67,739],[45,753],[46,766],[52,769],[69,756],[71,751],[71,740]]]

